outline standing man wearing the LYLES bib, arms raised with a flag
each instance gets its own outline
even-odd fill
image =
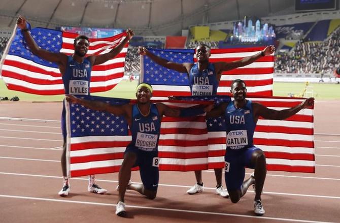
[[[74,54],[67,56],[64,53],[52,53],[41,49],[30,35],[29,29],[27,29],[27,21],[24,17],[19,16],[17,19],[17,26],[21,29],[21,33],[26,40],[27,46],[33,54],[47,61],[57,63],[66,94],[89,95],[92,67],[104,63],[118,55],[124,48],[124,45],[133,36],[133,31],[128,29],[126,31],[126,38],[116,48],[105,54],[88,57],[85,57],[85,55],[90,45],[89,38],[86,36],[78,36],[75,38],[73,44],[75,48]],[[64,107],[62,116],[65,116]],[[61,120],[63,120],[63,118]],[[61,123],[61,130],[64,141],[61,155],[61,169],[64,181],[58,194],[64,197],[69,195],[70,192],[70,179],[69,176],[67,176],[66,171],[66,128],[64,122]],[[95,194],[105,194],[107,192],[106,189],[103,189],[94,183],[94,175],[89,176],[88,191]]]

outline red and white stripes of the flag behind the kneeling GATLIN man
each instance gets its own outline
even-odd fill
[[[300,104],[298,98],[248,98],[271,109],[282,110]],[[266,156],[267,169],[289,172],[315,172],[314,110],[307,108],[285,120],[260,117],[254,132],[254,145]],[[223,168],[225,132],[208,133],[209,169]]]

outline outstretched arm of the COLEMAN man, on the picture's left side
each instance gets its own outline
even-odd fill
[[[152,52],[150,52],[147,48],[140,46],[138,47],[138,53],[143,55],[143,56],[148,56],[150,57],[153,61],[155,61],[158,65],[172,69],[181,73],[188,73],[190,68],[192,67],[192,63],[176,63],[172,61],[168,61],[166,59],[163,59],[162,57],[159,57]]]

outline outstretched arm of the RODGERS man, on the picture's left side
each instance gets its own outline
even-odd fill
[[[110,105],[104,102],[80,99],[74,95],[66,94],[66,101],[73,104],[80,104],[92,110],[106,111],[114,115],[126,115],[130,105]]]

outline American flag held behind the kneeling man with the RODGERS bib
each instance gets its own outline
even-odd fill
[[[134,100],[87,96],[111,105],[135,103]],[[169,107],[188,108],[207,101],[154,101]],[[131,133],[123,116],[95,111],[65,102],[67,172],[72,177],[118,172]],[[205,116],[163,117],[159,138],[160,170],[191,171],[208,169],[208,133]]]

